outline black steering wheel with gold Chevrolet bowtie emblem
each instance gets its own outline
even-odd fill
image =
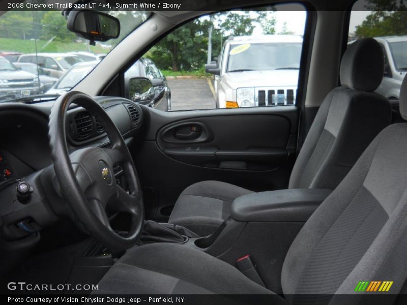
[[[112,148],[89,147],[69,154],[66,140],[66,114],[74,103],[95,115],[104,127]],[[49,115],[49,139],[54,170],[61,194],[76,220],[86,232],[110,250],[125,250],[140,238],[144,207],[137,171],[121,133],[106,111],[90,96],[68,92],[58,98]],[[116,184],[113,167],[121,165],[129,192]],[[115,232],[106,207],[127,212],[131,227],[126,236]]]

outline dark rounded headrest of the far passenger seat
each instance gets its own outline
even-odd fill
[[[373,38],[363,38],[349,45],[340,64],[340,83],[358,91],[373,92],[382,82],[384,55]]]

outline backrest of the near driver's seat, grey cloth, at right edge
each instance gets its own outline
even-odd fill
[[[400,93],[407,118],[407,78]],[[290,303],[304,295],[315,301],[327,294],[356,294],[360,281],[392,281],[397,294],[407,278],[407,124],[383,130],[352,170],[315,210],[290,247],[281,284]],[[370,284],[369,284],[370,285]],[[355,291],[355,289],[357,291]],[[362,289],[363,290],[363,289]],[[298,294],[296,296],[290,296]],[[331,303],[340,303],[338,296]]]

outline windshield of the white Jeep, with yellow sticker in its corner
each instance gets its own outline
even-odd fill
[[[302,43],[240,43],[230,45],[226,72],[299,69]]]

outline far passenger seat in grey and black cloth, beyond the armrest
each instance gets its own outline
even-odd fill
[[[363,150],[391,122],[389,101],[373,91],[383,78],[383,52],[374,39],[348,47],[340,66],[341,86],[319,108],[289,179],[288,189],[335,189]],[[209,235],[230,214],[230,202],[251,191],[220,181],[184,190],[168,220]]]

